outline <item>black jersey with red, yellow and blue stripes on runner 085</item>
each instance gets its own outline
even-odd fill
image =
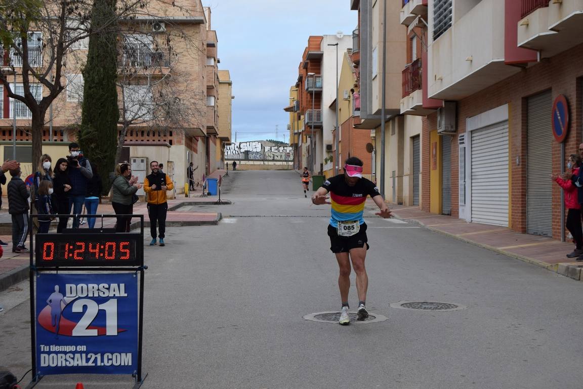
[[[356,185],[351,187],[346,183],[344,174],[329,178],[322,184],[322,188],[330,192],[332,203],[330,225],[332,227],[338,227],[338,222],[355,220],[363,224],[364,202],[367,196],[372,198],[381,195],[373,181],[360,178]]]

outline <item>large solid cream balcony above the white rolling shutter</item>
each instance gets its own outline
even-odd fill
[[[504,63],[504,0],[482,0],[429,46],[427,97],[459,100],[520,70]],[[433,26],[430,26],[433,30]]]

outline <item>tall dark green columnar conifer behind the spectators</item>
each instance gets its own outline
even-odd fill
[[[107,194],[111,187],[110,172],[115,166],[117,148],[117,122],[120,117],[117,80],[117,26],[111,26],[115,19],[116,0],[94,0],[91,17],[92,28],[108,23],[102,34],[89,38],[87,63],[83,69],[83,106],[79,145],[85,156],[96,164],[103,191]]]

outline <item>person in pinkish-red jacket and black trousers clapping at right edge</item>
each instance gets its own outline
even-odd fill
[[[565,206],[568,209],[567,212],[567,222],[565,226],[573,235],[575,240],[575,250],[572,253],[567,254],[568,258],[577,257],[577,261],[583,261],[583,229],[581,227],[581,205],[577,198],[577,187],[573,184],[572,177],[579,175],[579,170],[581,169],[581,156],[578,154],[571,154],[567,159],[567,169],[571,172],[567,172],[561,177],[560,174],[553,174],[552,178],[557,184],[563,188],[565,194]]]

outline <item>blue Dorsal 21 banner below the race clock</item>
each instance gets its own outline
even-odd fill
[[[135,273],[38,274],[36,373],[134,374],[138,303]]]

